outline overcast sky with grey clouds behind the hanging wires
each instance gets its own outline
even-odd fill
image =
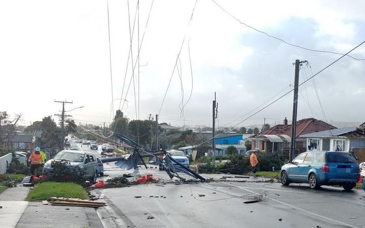
[[[241,21],[307,48],[346,53],[365,40],[363,1],[222,1]],[[211,125],[211,103],[217,93],[218,125],[224,126],[294,84],[296,59],[308,60],[316,73],[335,54],[288,46],[234,20],[210,0],[141,0],[139,42],[139,118],[156,115],[169,83],[182,40],[178,71],[172,76],[160,122],[182,125],[181,73],[187,125]],[[129,1],[133,28],[136,1]],[[114,99],[120,99],[130,48],[127,1],[109,1]],[[132,40],[133,65],[138,55],[138,17]],[[22,113],[22,124],[42,120],[61,110],[54,100],[73,101],[66,110],[77,122],[106,125],[111,119],[112,87],[106,1],[0,1],[0,110]],[[190,40],[190,55],[188,44]],[[352,56],[365,58],[365,45]],[[181,68],[180,68],[181,64]],[[135,94],[138,103],[138,73]],[[315,77],[327,120],[364,122],[365,61],[349,57]],[[300,82],[311,71],[302,69]],[[126,88],[132,76],[127,70]],[[285,89],[286,88],[286,89]],[[313,82],[300,88],[298,119],[324,119]],[[282,92],[281,94],[284,94]],[[309,105],[313,109],[310,110]],[[305,98],[305,99],[304,99]],[[136,119],[133,80],[123,112]],[[291,119],[293,93],[238,126]],[[114,101],[118,109],[120,100]],[[123,102],[122,102],[123,105]],[[138,106],[137,106],[138,107]],[[181,105],[180,105],[181,107]],[[137,108],[138,111],[138,108]],[[138,115],[137,115],[138,116]],[[247,115],[245,116],[247,117]],[[240,119],[243,120],[243,119]],[[240,120],[229,125],[235,125]]]

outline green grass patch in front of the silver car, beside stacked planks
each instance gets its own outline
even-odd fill
[[[50,197],[88,199],[85,189],[76,183],[47,181],[39,183],[29,192],[27,201],[42,201]]]

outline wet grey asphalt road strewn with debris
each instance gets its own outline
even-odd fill
[[[148,170],[141,168],[140,172],[167,179],[164,171],[148,166]],[[123,173],[128,171],[116,167],[114,162],[104,164],[104,174],[109,175],[104,179]],[[114,222],[111,226],[365,227],[365,192],[344,192],[340,187],[312,190],[308,184],[285,187],[269,182],[217,181],[150,183],[97,189],[93,193],[108,201],[106,210]],[[205,196],[199,197],[200,194]],[[263,201],[244,203],[260,195],[265,196]],[[148,219],[149,215],[154,218]]]

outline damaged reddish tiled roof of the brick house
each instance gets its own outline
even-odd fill
[[[327,124],[323,121],[316,120],[314,118],[302,119],[297,121],[296,136],[299,137],[302,134],[308,134],[332,129],[336,129],[336,127],[332,126],[331,124]],[[274,127],[269,128],[268,130],[260,132],[254,137],[259,135],[280,135],[280,134],[291,137],[291,125],[283,125],[283,124],[276,125]]]

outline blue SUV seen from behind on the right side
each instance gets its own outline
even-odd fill
[[[342,185],[349,191],[356,185],[359,177],[359,165],[347,152],[309,151],[281,167],[283,185],[291,182],[309,183],[311,188]]]

